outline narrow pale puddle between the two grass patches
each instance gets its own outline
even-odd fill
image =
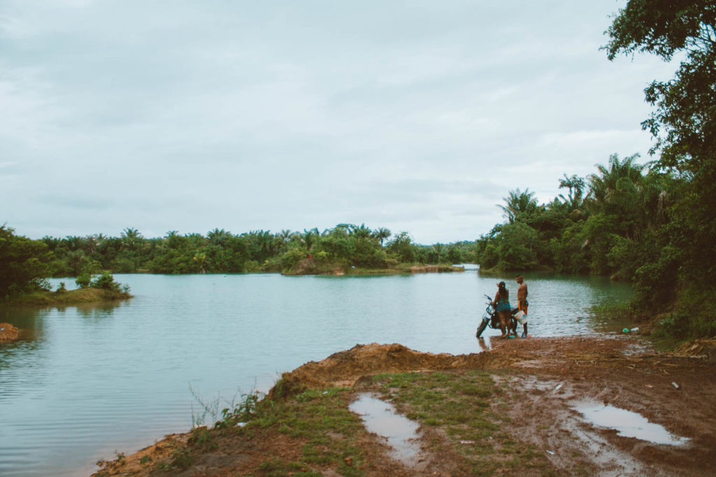
[[[392,458],[407,466],[417,465],[420,458],[417,428],[420,426],[415,421],[396,413],[391,403],[379,400],[370,393],[359,394],[349,409],[361,416],[369,432],[387,439],[392,447]]]

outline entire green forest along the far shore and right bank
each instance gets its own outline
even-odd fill
[[[651,160],[614,154],[588,177],[564,174],[564,193],[538,204],[528,189],[508,192],[505,221],[476,242],[417,245],[407,232],[337,225],[279,233],[145,238],[44,237],[29,240],[0,227],[0,297],[42,286],[48,276],[112,272],[312,272],[332,267],[395,268],[412,263],[480,263],[483,270],[556,270],[609,275],[634,283],[632,306],[663,314],[673,338],[716,335],[716,3],[629,0],[606,31],[607,57],[635,52],[666,61],[674,78],[644,90],[654,111]],[[310,258],[309,258],[310,257]]]

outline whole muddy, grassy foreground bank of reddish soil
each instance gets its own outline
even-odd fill
[[[661,353],[633,336],[493,343],[470,355],[357,345],[284,373],[214,428],[119,454],[94,475],[694,475],[716,465],[716,340]],[[348,408],[362,393],[420,423],[419,456],[396,460],[365,431]],[[679,440],[620,436],[580,411],[606,404]]]

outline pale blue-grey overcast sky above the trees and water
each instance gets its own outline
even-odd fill
[[[0,224],[475,240],[652,141],[616,0],[0,0]]]

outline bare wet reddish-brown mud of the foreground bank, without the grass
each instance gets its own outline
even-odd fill
[[[657,353],[634,337],[531,338],[493,340],[493,348],[470,355],[417,353],[402,345],[357,345],[320,362],[284,374],[295,388],[329,385],[365,389],[377,373],[482,369],[505,389],[499,412],[509,418],[514,440],[536,446],[556,475],[716,475],[716,340],[700,340]],[[679,436],[679,445],[620,436],[594,426],[577,408],[609,404],[639,413]],[[497,405],[497,404],[495,404]],[[142,458],[166,458],[188,435],[167,436],[122,461],[106,463],[103,476],[168,475],[141,466]],[[300,441],[269,434],[260,441],[233,437],[223,451],[205,453],[180,476],[261,475],[262,462],[301,456]],[[468,475],[462,458],[439,430],[422,428],[425,458],[406,468],[392,461],[378,436],[362,443],[369,476]],[[538,473],[544,473],[541,469]],[[324,475],[338,475],[321,471]],[[506,475],[529,475],[505,467]],[[95,475],[98,475],[97,473]]]

